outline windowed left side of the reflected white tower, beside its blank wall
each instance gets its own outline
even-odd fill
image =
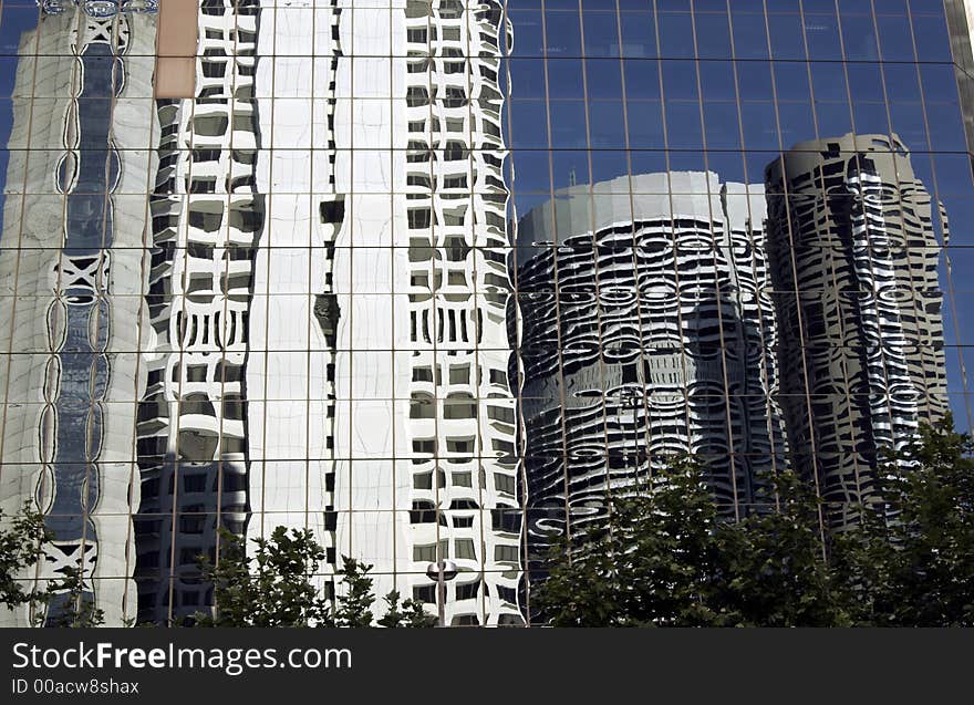
[[[253,54],[256,2],[199,13],[198,97],[159,101],[146,308],[153,344],[139,401],[135,517],[141,620],[200,608],[197,557],[248,512],[247,370],[265,222]]]

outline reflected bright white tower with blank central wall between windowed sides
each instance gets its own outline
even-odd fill
[[[146,569],[172,552],[173,573],[143,583],[162,605],[146,618],[204,604],[196,558],[224,525],[311,528],[329,570],[363,557],[376,589],[427,602],[427,563],[450,558],[475,571],[450,620],[517,619],[518,532],[496,511],[517,470],[501,95],[480,71],[496,76],[500,17],[388,15],[204,3],[198,96],[162,103],[164,372],[145,406],[167,413],[143,424],[166,445],[141,455],[136,531]]]

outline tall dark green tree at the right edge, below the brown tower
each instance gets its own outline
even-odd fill
[[[857,623],[974,626],[972,454],[947,416],[881,465],[861,526],[833,550]]]

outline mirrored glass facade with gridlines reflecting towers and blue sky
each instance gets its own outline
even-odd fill
[[[966,6],[966,7],[965,7]],[[0,507],[108,624],[311,529],[452,625],[674,455],[972,426],[960,0],[0,0]],[[56,604],[55,604],[56,609]],[[27,624],[24,611],[0,612]]]

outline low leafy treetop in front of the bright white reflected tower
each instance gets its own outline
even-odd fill
[[[253,554],[247,557],[240,537],[221,529],[220,560],[214,564],[200,557],[206,582],[214,585],[210,614],[197,613],[194,626],[372,626],[372,566],[342,557],[344,590],[335,604],[321,594],[314,576],[325,557],[324,549],[308,529],[277,527],[270,538],[256,538]],[[385,597],[387,611],[382,626],[432,626],[435,618],[422,603],[405,600],[398,592]]]

